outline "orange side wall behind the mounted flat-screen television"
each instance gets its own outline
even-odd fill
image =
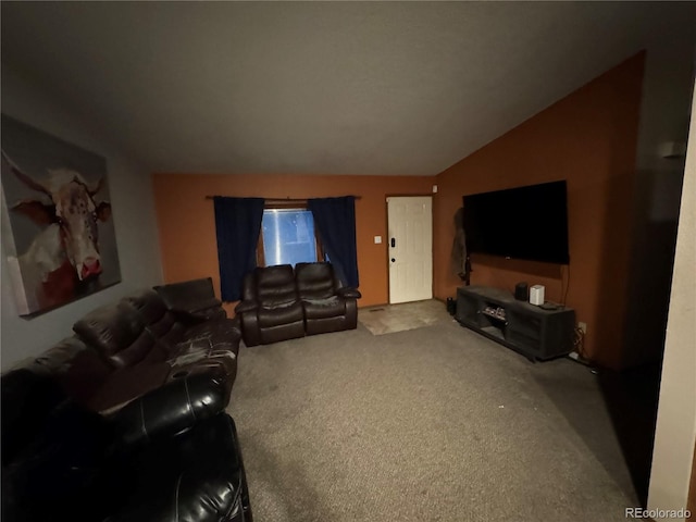
[[[437,176],[436,297],[453,297],[459,284],[448,266],[463,195],[567,179],[570,265],[474,256],[472,284],[512,290],[526,281],[561,301],[570,271],[567,303],[587,323],[585,352],[621,366],[644,58],[623,62]]]

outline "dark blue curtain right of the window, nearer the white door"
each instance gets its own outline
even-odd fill
[[[353,288],[358,278],[358,250],[356,248],[356,198],[321,198],[307,200],[314,216],[314,226],[324,251],[340,281]]]

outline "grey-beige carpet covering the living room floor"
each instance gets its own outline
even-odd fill
[[[241,348],[257,522],[616,521],[637,506],[597,376],[453,322]]]

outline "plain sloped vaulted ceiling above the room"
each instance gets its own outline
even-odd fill
[[[2,62],[157,172],[434,175],[692,2],[7,2]]]

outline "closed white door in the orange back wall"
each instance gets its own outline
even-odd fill
[[[387,198],[389,302],[433,298],[433,198]]]

